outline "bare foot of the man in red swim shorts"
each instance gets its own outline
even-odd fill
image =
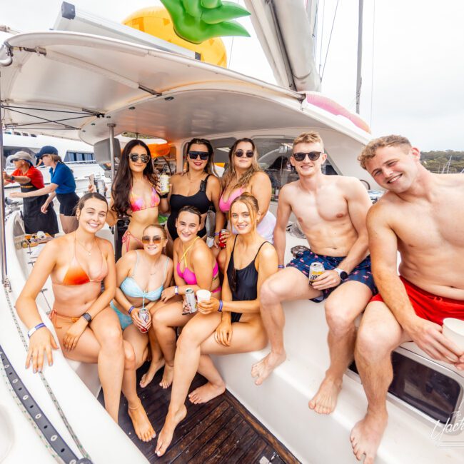
[[[377,454],[378,445],[387,426],[386,412],[367,413],[351,430],[350,440],[353,453],[357,460],[364,458],[364,464],[373,464]]]

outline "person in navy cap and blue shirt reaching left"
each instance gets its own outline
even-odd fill
[[[58,150],[51,145],[43,146],[36,158],[43,161],[44,166],[50,168],[50,183],[39,191],[14,192],[11,198],[29,198],[31,196],[50,193],[47,200],[41,206],[42,213],[48,211],[51,201],[56,197],[60,203],[60,222],[64,233],[75,231],[78,223],[76,220],[76,206],[79,196],[76,195],[76,181],[73,172],[66,166],[58,154]]]

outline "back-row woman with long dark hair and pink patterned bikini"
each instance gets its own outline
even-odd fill
[[[167,194],[156,191],[158,176],[151,155],[141,140],[131,140],[124,147],[121,162],[111,188],[111,203],[107,222],[114,226],[118,218],[130,216],[131,221],[122,242],[122,255],[143,248],[143,229],[158,223],[158,212],[168,211]]]

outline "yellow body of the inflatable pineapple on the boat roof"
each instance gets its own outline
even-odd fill
[[[146,32],[151,36],[159,37],[184,49],[195,51],[200,54],[201,61],[216,64],[217,66],[227,67],[226,47],[221,39],[215,37],[207,39],[201,44],[192,44],[181,39],[173,28],[171,16],[162,6],[151,6],[135,11],[124,19],[123,24]]]

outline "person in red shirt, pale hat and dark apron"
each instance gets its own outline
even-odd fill
[[[18,151],[9,156],[9,161],[16,168],[11,174],[3,173],[4,183],[19,183],[21,193],[29,193],[44,188],[44,177],[39,169],[34,167],[32,156],[26,151]],[[41,212],[41,207],[48,200],[49,195],[31,196],[23,200],[24,231],[36,233],[48,232],[51,236],[58,233],[58,219],[54,208],[49,208],[46,213]]]

